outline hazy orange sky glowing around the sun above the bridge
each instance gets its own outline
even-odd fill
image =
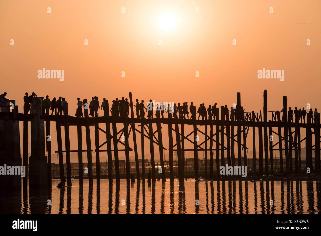
[[[289,106],[321,109],[320,10],[318,0],[2,0],[1,93],[16,99],[20,112],[25,92],[33,91],[65,97],[70,114],[77,97],[102,102],[130,91],[145,101],[229,107],[241,92],[246,111],[259,111],[267,89],[268,110],[282,109],[283,95]],[[160,29],[164,13],[176,19],[174,29]],[[38,79],[43,67],[65,70],[65,80]],[[284,81],[258,79],[263,67],[284,70]]]

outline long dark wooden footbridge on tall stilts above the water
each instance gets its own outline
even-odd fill
[[[100,152],[107,152],[108,158],[108,180],[111,184],[113,181],[113,169],[116,174],[116,182],[120,181],[120,170],[118,152],[125,152],[126,160],[126,180],[130,183],[130,179],[134,178],[131,176],[131,168],[129,162],[129,152],[134,151],[135,156],[135,175],[137,181],[145,181],[145,154],[144,154],[144,139],[147,138],[150,144],[150,160],[151,160],[151,176],[148,175],[148,180],[151,178],[155,181],[155,172],[158,171],[158,167],[162,170],[169,169],[169,178],[171,181],[174,180],[174,157],[173,153],[176,151],[177,154],[177,169],[178,169],[178,179],[184,180],[184,172],[186,170],[185,164],[185,151],[194,152],[194,176],[195,179],[199,177],[199,158],[198,152],[205,152],[205,177],[213,178],[214,166],[216,169],[216,174],[219,175],[219,167],[221,165],[228,164],[229,166],[235,165],[245,165],[249,168],[253,168],[254,174],[273,174],[273,150],[278,150],[280,154],[280,169],[281,173],[292,172],[294,167],[295,173],[299,173],[302,163],[301,163],[301,142],[305,140],[306,145],[306,161],[303,166],[313,167],[320,169],[320,114],[318,114],[318,119],[315,124],[310,123],[309,114],[307,114],[307,123],[299,123],[299,119],[296,118],[295,122],[289,122],[287,117],[287,112],[283,114],[283,120],[281,121],[280,112],[271,112],[271,120],[268,120],[267,111],[267,93],[264,91],[264,104],[263,104],[263,121],[262,113],[252,112],[252,113],[241,113],[241,117],[238,120],[234,120],[234,115],[229,116],[225,112],[223,106],[221,109],[216,108],[215,120],[205,119],[205,120],[185,120],[177,119],[177,117],[172,117],[171,113],[168,114],[168,118],[156,119],[140,119],[134,118],[134,109],[132,95],[129,93],[130,97],[130,109],[131,118],[127,117],[126,114],[123,117],[111,117],[109,116],[109,107],[107,102],[107,116],[103,117],[92,117],[89,118],[88,109],[84,109],[84,118],[78,118],[68,115],[68,109],[65,109],[66,114],[64,115],[42,115],[41,112],[41,98],[33,98],[33,114],[24,114],[18,112],[18,106],[14,105],[14,100],[11,100],[14,109],[10,112],[10,101],[1,101],[1,163],[0,165],[7,164],[12,166],[21,165],[20,156],[20,132],[19,132],[19,121],[23,121],[23,164],[28,163],[28,123],[30,121],[30,133],[31,133],[31,156],[29,158],[29,179],[30,179],[30,189],[43,188],[51,186],[51,141],[50,136],[50,121],[56,122],[56,133],[57,133],[57,144],[58,144],[58,156],[59,156],[59,172],[60,179],[65,179],[64,163],[63,163],[63,153],[66,155],[66,175],[67,175],[67,185],[71,186],[71,163],[70,163],[70,153],[77,152],[78,156],[82,156],[83,152],[87,152],[87,165],[88,165],[88,178],[89,184],[92,184],[93,179],[93,169],[92,169],[92,145],[91,145],[91,133],[90,126],[94,126],[95,132],[95,151],[96,151],[96,178],[97,182],[100,181]],[[83,105],[87,105],[87,99],[83,100]],[[283,107],[287,106],[286,96],[283,97]],[[237,105],[236,110],[241,109],[241,99],[240,93],[237,93]],[[126,110],[125,105],[123,110]],[[219,118],[221,110],[221,119]],[[232,113],[234,111],[232,110]],[[196,117],[196,108],[192,111],[194,117]],[[230,119],[231,118],[231,119]],[[122,124],[123,128],[117,131],[117,123]],[[104,125],[105,129],[101,128],[100,125]],[[135,124],[137,124],[140,129],[136,129]],[[156,124],[156,131],[153,131],[153,124]],[[164,162],[163,150],[163,139],[161,132],[161,125],[166,124],[168,126],[168,139],[169,139],[169,161]],[[192,126],[193,131],[189,134],[184,134],[184,127]],[[77,139],[78,139],[78,149],[70,150],[70,137],[69,137],[69,126],[77,126]],[[86,149],[82,148],[82,126],[85,127],[85,138],[86,138]],[[110,128],[111,126],[111,128]],[[174,126],[174,128],[173,128]],[[180,131],[179,131],[180,126]],[[61,137],[61,127],[65,130],[65,150],[62,149],[62,137]],[[129,130],[128,130],[129,127]],[[205,131],[201,130],[204,128]],[[215,127],[215,131],[214,131]],[[237,130],[235,131],[235,127]],[[247,158],[247,144],[246,139],[248,132],[252,128],[253,134],[253,161],[248,163]],[[208,128],[209,132],[208,132]],[[294,131],[292,131],[294,128]],[[305,129],[306,137],[301,139],[301,128]],[[258,164],[256,163],[256,132],[258,130]],[[273,130],[274,129],[274,130]],[[314,131],[312,131],[314,129]],[[46,134],[45,134],[46,130]],[[284,137],[282,136],[282,130],[284,131]],[[175,136],[173,138],[173,131]],[[99,132],[106,134],[106,141],[100,144]],[[141,134],[141,160],[138,159],[138,148],[136,144],[136,132]],[[156,137],[157,133],[157,137]],[[133,148],[129,147],[129,138],[132,134],[133,138]],[[273,142],[273,134],[278,136],[278,140]],[[315,145],[312,145],[312,134],[314,134]],[[200,135],[204,136],[204,141],[199,141]],[[124,137],[124,141],[121,141],[121,137]],[[51,137],[51,136],[50,136]],[[176,143],[173,143],[173,139]],[[243,139],[243,140],[242,140]],[[113,142],[113,146],[111,145]],[[194,148],[185,148],[185,142],[192,143]],[[283,144],[282,144],[283,142]],[[209,146],[208,146],[209,143]],[[213,146],[213,143],[215,146]],[[159,148],[160,162],[155,164],[154,160],[154,144]],[[105,146],[106,145],[106,146]],[[120,145],[119,148],[118,146]],[[203,148],[202,145],[205,147]],[[48,154],[45,156],[45,146]],[[235,157],[234,149],[237,146],[237,154]],[[105,147],[105,149],[103,149]],[[314,148],[314,149],[313,149]],[[283,158],[282,150],[285,151],[285,161]],[[292,151],[294,150],[294,165],[292,164]],[[315,150],[315,159],[313,163],[312,150]],[[215,158],[214,158],[215,151]],[[210,156],[208,157],[208,152]],[[242,156],[243,152],[243,156]],[[114,159],[112,158],[112,153],[114,153]],[[225,156],[226,154],[226,156]],[[264,157],[264,158],[263,158]],[[215,165],[214,165],[215,159]],[[165,168],[165,167],[169,168]],[[258,171],[256,170],[258,166]],[[283,168],[285,166],[285,168]],[[263,171],[265,169],[265,171]],[[78,163],[79,173],[83,172],[82,158],[79,158]],[[0,176],[3,181],[1,181],[1,186],[4,188],[21,188],[20,177],[13,176]],[[165,171],[161,172],[161,178],[165,180]],[[79,175],[79,183],[83,185],[83,175]],[[23,186],[27,188],[27,177],[23,179]]]

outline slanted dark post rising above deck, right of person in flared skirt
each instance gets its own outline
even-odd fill
[[[90,139],[90,126],[89,126],[89,115],[87,99],[83,99],[83,113],[86,121],[85,130],[86,130],[86,146],[87,146],[87,163],[88,163],[88,182],[89,185],[92,185],[92,159],[91,159],[91,139]]]

